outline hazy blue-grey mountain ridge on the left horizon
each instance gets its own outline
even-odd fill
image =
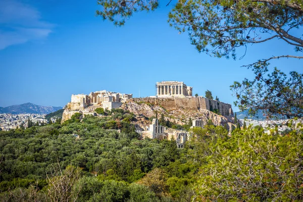
[[[34,105],[32,103],[25,103],[22,105],[12,105],[9,107],[0,107],[0,114],[49,114],[61,110],[62,107],[44,107]]]

